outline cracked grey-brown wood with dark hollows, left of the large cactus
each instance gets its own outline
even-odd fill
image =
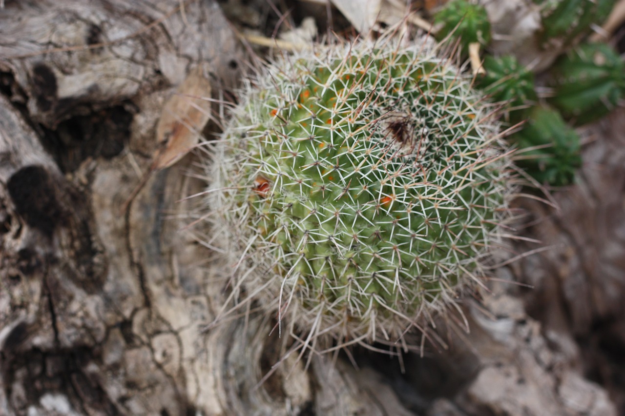
[[[186,2],[184,14],[181,5],[39,2],[0,14],[0,69],[10,99],[26,104],[22,114],[0,97],[2,414],[279,415],[325,406],[314,402],[312,373],[292,360],[258,387],[279,359],[264,357],[275,341],[261,325],[267,317],[203,332],[227,282],[214,254],[183,230],[199,199],[177,201],[203,186],[187,175],[191,158],[154,172],[122,210],[161,145],[156,126],[174,87],[202,65],[219,88],[236,80],[241,53],[217,4]],[[98,42],[110,44],[81,47]],[[59,48],[70,50],[42,52]],[[132,119],[121,152],[77,152],[87,156],[66,163],[63,148],[42,139],[112,107]],[[347,367],[334,385],[354,372]],[[367,403],[356,388],[335,393],[339,404]]]

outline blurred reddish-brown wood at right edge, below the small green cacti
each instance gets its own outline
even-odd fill
[[[559,209],[524,201],[534,215],[527,232],[552,248],[517,264],[516,275],[534,286],[520,291],[529,314],[546,334],[566,335],[571,366],[601,382],[622,414],[615,380],[625,374],[625,111],[584,136],[576,185],[554,193]]]

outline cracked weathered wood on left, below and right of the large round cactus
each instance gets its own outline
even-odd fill
[[[228,266],[187,229],[198,156],[164,168],[154,156],[178,137],[158,128],[176,87],[201,74],[219,98],[241,51],[212,0],[0,10],[0,414],[603,416],[612,400],[622,412],[608,382],[622,367],[595,377],[603,387],[584,378],[613,361],[593,342],[625,344],[622,112],[594,129],[561,209],[519,202],[541,221],[525,233],[556,247],[497,274],[534,289],[494,280],[483,305],[467,299],[471,331],[438,329],[449,350],[402,365],[359,350],[288,357],[260,383],[288,343],[273,317],[204,331]]]

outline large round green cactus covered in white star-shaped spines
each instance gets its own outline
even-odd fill
[[[482,277],[509,159],[470,84],[425,39],[317,46],[248,80],[207,201],[239,302],[308,347],[395,342]]]

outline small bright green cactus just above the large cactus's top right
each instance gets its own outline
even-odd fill
[[[465,53],[471,43],[486,46],[491,42],[491,22],[481,4],[451,0],[434,15],[434,23],[441,26],[436,33],[439,40],[451,34],[452,39],[458,39]]]

